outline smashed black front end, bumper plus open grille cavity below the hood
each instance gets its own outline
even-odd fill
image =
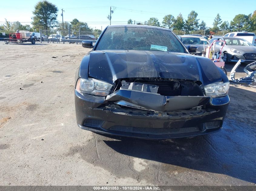
[[[206,92],[211,92],[211,87],[195,80],[121,78],[106,96],[84,93],[78,83],[78,126],[111,135],[168,139],[218,132],[229,103],[227,92],[216,97]],[[100,82],[94,83],[94,89],[101,88],[96,85]]]

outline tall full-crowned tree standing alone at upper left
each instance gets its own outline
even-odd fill
[[[34,28],[42,28],[50,30],[57,26],[57,12],[58,8],[56,5],[44,0],[40,1],[35,5],[33,11],[34,16],[32,17],[32,25]]]

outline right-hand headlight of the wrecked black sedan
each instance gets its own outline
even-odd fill
[[[206,96],[222,97],[228,94],[229,82],[217,82],[204,86]]]

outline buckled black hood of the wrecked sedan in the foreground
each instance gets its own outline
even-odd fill
[[[108,83],[121,78],[173,78],[201,81],[203,85],[222,81],[218,67],[202,56],[164,51],[91,51],[88,76]]]

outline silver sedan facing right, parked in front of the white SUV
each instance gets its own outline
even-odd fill
[[[237,37],[214,37],[210,40],[212,43],[214,40],[225,40],[222,52],[223,61],[225,64],[228,62],[237,62],[241,59],[241,62],[254,62],[256,61],[256,47],[249,43],[247,40]],[[221,48],[222,42],[217,42],[216,47]]]

